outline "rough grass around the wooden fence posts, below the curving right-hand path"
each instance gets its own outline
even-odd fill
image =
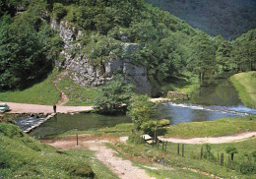
[[[234,147],[238,153],[231,161],[225,152],[226,147]],[[203,158],[201,159],[201,149],[203,148]],[[210,150],[207,150],[210,149]],[[208,178],[213,174],[222,178],[244,178],[249,179],[255,176],[256,163],[253,153],[256,151],[256,141],[248,140],[240,143],[220,144],[220,145],[184,145],[184,156],[177,154],[177,144],[168,143],[167,149],[153,148],[149,145],[130,145],[117,143],[115,149],[123,157],[134,158],[137,161],[148,159],[148,161],[163,161],[171,170],[154,170],[148,168],[150,173],[157,178],[166,176],[179,176],[178,178]],[[220,155],[224,153],[224,166],[220,164]],[[145,164],[144,164],[145,165]],[[241,169],[242,168],[242,169]],[[187,171],[188,174],[184,173]],[[194,171],[190,172],[190,171]],[[204,173],[205,172],[205,173]],[[170,174],[169,176],[167,174]],[[204,174],[204,177],[202,177]]]

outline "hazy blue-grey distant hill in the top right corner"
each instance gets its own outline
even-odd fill
[[[147,0],[194,28],[233,39],[256,27],[256,0]]]

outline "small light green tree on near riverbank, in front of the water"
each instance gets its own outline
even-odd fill
[[[128,106],[128,116],[132,118],[135,129],[140,131],[143,124],[152,119],[155,103],[150,101],[148,95],[136,95]]]

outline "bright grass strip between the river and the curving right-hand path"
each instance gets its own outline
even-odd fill
[[[256,131],[256,117],[234,117],[215,121],[191,122],[171,125],[164,137],[204,138],[233,135],[239,132]]]

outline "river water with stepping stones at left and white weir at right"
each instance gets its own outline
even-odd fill
[[[155,118],[169,119],[170,124],[178,124],[244,115],[255,116],[256,109],[247,108],[238,98],[237,91],[231,83],[222,80],[218,86],[199,89],[197,93],[192,94],[190,101],[160,104]],[[22,129],[35,123],[32,118],[15,120]],[[36,138],[50,139],[72,129],[87,130],[112,127],[119,123],[128,122],[131,122],[131,119],[126,116],[105,116],[90,113],[57,114],[35,129],[31,135]]]

